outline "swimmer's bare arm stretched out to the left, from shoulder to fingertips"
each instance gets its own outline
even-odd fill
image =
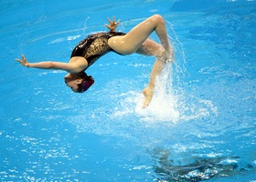
[[[38,62],[38,63],[28,63],[27,59],[24,55],[22,55],[22,59],[17,59],[22,66],[27,67],[35,67],[39,69],[59,69],[65,70],[69,73],[80,73],[83,69],[87,67],[87,61],[83,57],[72,57],[72,59],[76,59],[73,63],[62,63],[62,62]]]

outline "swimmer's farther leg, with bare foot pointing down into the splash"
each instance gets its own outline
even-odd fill
[[[167,57],[165,54],[162,53],[165,51],[162,45],[155,43],[154,41],[147,39],[144,41],[144,44],[137,50],[138,54],[145,55],[145,56],[155,56],[155,64],[152,68],[152,72],[149,78],[149,83],[146,88],[144,88],[144,105],[146,107],[150,104],[152,97],[154,96],[155,91],[155,78],[159,76],[162,72],[165,64],[168,60],[172,61],[170,57]],[[171,52],[171,55],[173,53]]]

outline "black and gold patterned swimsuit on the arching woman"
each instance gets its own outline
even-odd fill
[[[125,35],[125,33],[104,32],[89,35],[87,38],[80,41],[80,43],[73,49],[70,58],[73,56],[82,56],[87,60],[89,67],[101,56],[110,51],[114,51],[110,45],[108,45],[108,40],[116,35]]]

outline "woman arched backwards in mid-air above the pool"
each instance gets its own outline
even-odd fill
[[[110,25],[106,26],[110,32],[92,34],[80,41],[73,49],[69,63],[50,61],[28,63],[24,55],[22,55],[22,59],[16,59],[16,61],[27,67],[65,70],[69,72],[64,78],[67,86],[74,92],[82,93],[94,83],[92,76],[87,76],[85,70],[106,53],[113,51],[123,56],[133,53],[155,56],[155,65],[148,86],[143,90],[144,107],[146,107],[154,95],[155,77],[161,73],[167,61],[173,60],[173,50],[166,33],[165,20],[161,15],[152,15],[133,27],[127,34],[115,32],[120,20],[115,22],[114,18],[113,21],[108,18],[108,21]],[[161,45],[148,38],[154,31],[159,37]]]

